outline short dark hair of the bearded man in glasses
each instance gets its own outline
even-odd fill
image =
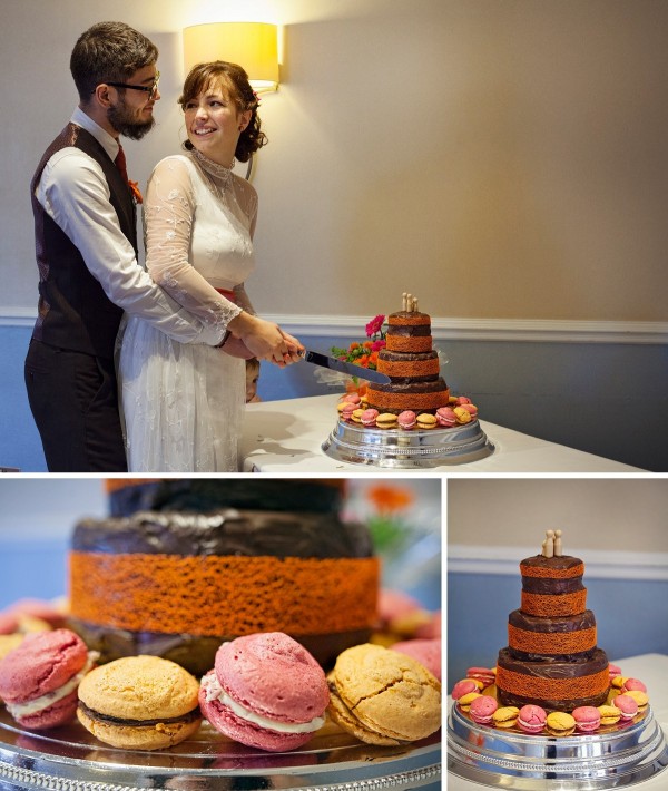
[[[79,36],[70,71],[81,101],[100,82],[126,82],[138,69],[155,64],[158,48],[125,22],[98,22]]]

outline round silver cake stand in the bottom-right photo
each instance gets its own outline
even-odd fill
[[[629,725],[559,738],[477,725],[456,704],[448,720],[449,771],[481,785],[592,791],[639,783],[667,765],[668,745],[649,707]]]

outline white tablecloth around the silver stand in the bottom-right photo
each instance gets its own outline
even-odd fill
[[[611,662],[621,667],[625,676],[631,678],[640,678],[647,686],[649,694],[649,704],[652,707],[654,715],[668,738],[668,656],[665,654],[642,654],[640,656],[629,656],[626,660],[611,660]],[[448,697],[448,711],[452,705],[452,699]],[[475,789],[487,788],[471,780],[458,778],[455,774],[448,772],[448,791],[475,791]],[[666,791],[668,789],[668,769],[665,769],[659,774],[644,780],[642,782],[630,785],[633,791]]]

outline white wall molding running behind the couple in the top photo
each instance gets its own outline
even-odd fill
[[[0,306],[0,326],[32,326],[35,309]],[[363,336],[371,316],[263,314],[294,334]],[[668,343],[668,322],[569,321],[561,319],[451,319],[432,316],[436,341],[547,343]]]

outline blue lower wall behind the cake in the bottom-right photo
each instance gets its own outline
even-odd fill
[[[598,644],[610,661],[668,654],[668,582],[595,578],[586,586]],[[519,575],[448,574],[448,691],[468,667],[494,666],[520,592]]]

